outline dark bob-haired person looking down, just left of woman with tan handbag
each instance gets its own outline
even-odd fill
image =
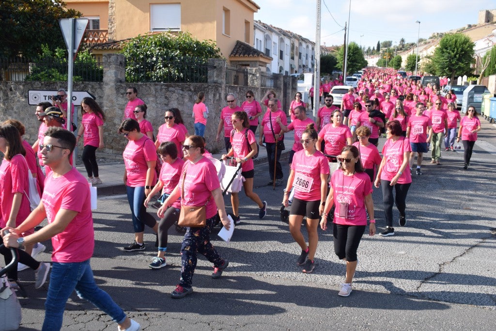
[[[155,184],[153,190],[145,199],[145,207],[148,207],[150,200],[159,192],[162,193],[159,201],[163,202],[169,197],[179,183],[181,171],[183,170],[183,165],[185,163],[182,158],[178,157],[178,148],[172,141],[162,142],[160,146],[158,146],[158,154],[164,162],[162,164],[162,169],[160,170],[157,184]],[[159,208],[158,213],[163,213],[164,217],[161,217],[158,223],[158,253],[157,256],[152,259],[151,264],[148,265],[152,269],[159,269],[167,265],[165,260],[168,241],[167,231],[179,220],[180,210],[180,199],[174,201],[171,206],[164,207],[162,205]]]

